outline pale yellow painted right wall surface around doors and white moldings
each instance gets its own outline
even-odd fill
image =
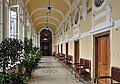
[[[92,0],[89,0],[89,8],[91,7]],[[111,4],[112,7],[112,18],[113,20],[118,20],[120,19],[120,11],[118,8],[120,7],[120,0],[109,0],[106,5],[98,12],[94,11],[94,15],[99,14],[100,12],[103,12],[106,10],[107,5]],[[88,9],[89,9],[88,8]],[[75,10],[74,10],[75,11]],[[74,11],[71,13],[72,20],[74,20]],[[81,11],[80,11],[80,16],[81,16]],[[106,17],[102,17],[96,21],[96,24],[100,24],[106,20]],[[68,42],[68,54],[72,55],[74,57],[74,26],[72,26],[72,30],[69,31],[69,39],[72,38],[71,41]],[[84,34],[86,32],[91,31],[92,27],[92,12],[90,12],[87,16],[86,22],[83,21],[83,18],[80,20],[80,34]],[[101,32],[101,31],[97,31]],[[96,33],[97,33],[96,32]],[[111,66],[119,66],[120,67],[120,28],[118,30],[113,29],[112,32],[112,39],[111,39]],[[65,41],[65,34],[63,34],[63,41]],[[91,76],[93,76],[93,36],[89,35],[87,37],[83,37],[79,39],[80,41],[80,58],[88,59],[91,60]],[[66,43],[63,44],[63,53],[66,54]],[[74,60],[74,59],[73,59]]]

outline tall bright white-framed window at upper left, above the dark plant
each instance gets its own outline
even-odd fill
[[[18,38],[19,39],[19,26],[20,26],[20,10],[19,5],[10,6],[9,11],[9,37],[10,38]]]

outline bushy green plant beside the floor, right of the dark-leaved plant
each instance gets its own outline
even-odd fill
[[[22,65],[25,67],[25,75],[31,76],[31,73],[37,69],[38,62],[41,59],[42,52],[40,49],[31,51],[30,54],[25,54],[22,60]]]

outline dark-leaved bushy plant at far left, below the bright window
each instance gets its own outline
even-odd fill
[[[3,74],[6,73],[6,68],[12,68],[9,65],[19,60],[22,51],[23,43],[20,40],[6,38],[0,43],[0,69],[3,69]]]

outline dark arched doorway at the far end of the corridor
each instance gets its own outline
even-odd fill
[[[52,55],[52,33],[50,30],[43,29],[40,33],[40,47],[43,56]]]

